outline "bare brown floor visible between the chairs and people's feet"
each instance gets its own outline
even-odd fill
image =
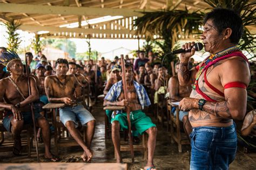
[[[95,136],[92,141],[93,162],[115,162],[114,149],[112,140],[105,140],[104,137],[104,111],[102,103],[98,103],[93,107],[92,114],[97,120]],[[152,119],[153,122],[156,120]],[[154,154],[154,165],[157,169],[189,169],[189,150],[190,146],[183,146],[183,152],[178,152],[177,144],[171,144],[170,132],[166,132],[166,128],[158,126],[157,145]],[[10,134],[10,133],[9,133]],[[53,146],[53,138],[52,138]],[[39,143],[39,153],[41,162],[43,159],[44,147]],[[61,162],[82,162],[80,155],[82,148],[79,146],[63,147],[59,150]],[[140,169],[146,164],[143,154],[135,152],[135,162],[131,163],[130,152],[122,152],[123,160],[129,164],[129,169]],[[26,151],[20,157],[15,157],[12,152],[0,153],[0,162],[36,162],[35,148],[32,149],[31,158],[27,158]],[[242,148],[239,147],[235,160],[230,165],[230,169],[256,169],[256,153],[244,154]]]

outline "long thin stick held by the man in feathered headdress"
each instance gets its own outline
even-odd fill
[[[26,64],[26,77],[28,77],[28,87],[29,87],[29,96],[31,95],[31,86],[30,86],[30,77],[29,77],[29,66],[28,66],[28,61],[25,58],[25,64]],[[39,162],[39,153],[38,153],[38,143],[37,143],[37,134],[36,134],[36,122],[35,122],[35,113],[34,113],[34,105],[33,102],[30,103],[30,110],[31,110],[31,115],[32,115],[32,121],[33,121],[33,132],[34,132],[34,137],[36,140],[36,154],[37,154],[37,162]]]

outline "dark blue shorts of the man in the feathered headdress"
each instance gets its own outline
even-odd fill
[[[42,117],[42,115],[40,115],[39,112],[40,112],[40,109],[38,107],[34,109],[36,122],[37,122],[38,118]],[[31,111],[22,112],[22,116],[23,116],[24,124],[32,124],[33,123]],[[11,120],[13,118],[14,118],[14,114],[12,114],[11,111],[5,112],[4,119],[3,119],[3,125],[4,125],[4,128],[9,132],[11,131]]]

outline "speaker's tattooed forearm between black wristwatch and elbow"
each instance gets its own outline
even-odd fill
[[[227,102],[206,102],[203,110],[208,114],[216,117],[232,118],[230,110],[227,107]]]

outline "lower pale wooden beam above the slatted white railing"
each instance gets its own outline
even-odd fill
[[[49,31],[51,33],[83,33],[83,34],[135,34],[136,32],[133,30],[99,30],[99,29],[80,29],[80,28],[65,28],[65,27],[55,27],[55,26],[34,26],[34,25],[21,25],[19,26],[19,30],[29,31],[29,32],[38,32],[38,31]]]

